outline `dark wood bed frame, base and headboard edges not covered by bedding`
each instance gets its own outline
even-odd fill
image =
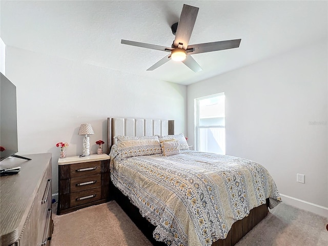
[[[171,125],[171,124],[170,124]],[[173,127],[173,123],[171,125]],[[112,132],[112,122],[111,118],[108,118],[108,150],[113,143]],[[169,134],[173,134],[173,130],[169,131]],[[108,152],[110,153],[110,152]],[[144,235],[152,242],[154,246],[167,246],[164,242],[156,241],[153,238],[153,231],[155,230],[155,226],[151,224],[145,217],[142,217],[139,209],[135,207],[130,199],[122,194],[120,190],[118,190],[112,182],[110,182],[110,197],[114,199],[122,210],[131,218],[131,220],[136,224],[139,230],[144,233]],[[237,220],[233,223],[231,230],[228,233],[227,238],[219,239],[212,243],[212,246],[233,246],[235,245],[244,235],[246,235],[249,231],[251,231],[265,216],[268,215],[268,204],[269,198],[267,198],[267,203],[262,204],[259,207],[256,207],[250,211],[249,216],[244,217],[241,220]]]

